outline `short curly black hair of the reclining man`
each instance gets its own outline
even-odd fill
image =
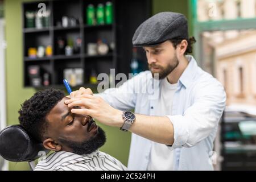
[[[33,138],[43,142],[47,129],[46,116],[51,109],[65,97],[61,90],[46,89],[36,92],[26,100],[19,110],[19,123]]]

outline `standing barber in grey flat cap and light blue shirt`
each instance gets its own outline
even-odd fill
[[[193,42],[183,14],[156,14],[133,36],[133,46],[146,52],[150,71],[100,94],[80,88],[66,101],[69,107],[82,106],[72,113],[133,133],[130,170],[213,170],[209,159],[226,94],[187,55]],[[154,92],[143,92],[150,88]]]

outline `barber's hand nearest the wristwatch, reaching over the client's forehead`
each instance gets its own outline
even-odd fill
[[[98,122],[108,126],[121,127],[123,124],[122,111],[114,109],[101,97],[92,96],[91,94],[77,95],[75,98],[66,100],[68,107],[80,106],[81,109],[71,109],[72,113],[81,115],[90,115]]]

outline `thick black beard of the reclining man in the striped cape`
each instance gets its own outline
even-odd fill
[[[60,142],[72,148],[73,152],[79,155],[90,154],[104,145],[106,142],[105,131],[98,126],[98,133],[86,142],[74,142],[71,140],[59,139]]]

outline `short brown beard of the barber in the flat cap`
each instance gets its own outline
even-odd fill
[[[179,60],[177,59],[176,55],[174,56],[173,60],[170,60],[170,62],[172,64],[168,64],[167,67],[162,67],[160,65],[156,65],[155,63],[148,64],[148,69],[150,69],[150,71],[152,73],[152,77],[157,78],[155,74],[158,74],[158,79],[159,80],[162,80],[165,77],[167,77],[179,65]],[[151,70],[152,67],[158,68],[159,71],[158,72],[152,72],[152,70]]]

